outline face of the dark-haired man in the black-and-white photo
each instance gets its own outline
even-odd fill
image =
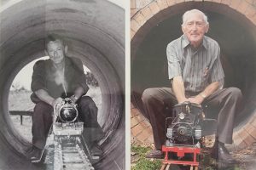
[[[47,44],[47,53],[49,54],[49,59],[55,64],[60,64],[64,59],[64,46],[62,42],[60,40],[49,42]]]

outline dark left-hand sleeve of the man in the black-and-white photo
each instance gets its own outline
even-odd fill
[[[44,60],[38,60],[33,66],[32,83],[31,83],[32,92],[36,92],[39,89],[44,89],[45,91],[48,90],[45,87],[45,68],[44,67],[45,67]]]

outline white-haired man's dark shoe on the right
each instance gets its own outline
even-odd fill
[[[236,163],[236,160],[230,155],[223,143],[216,141],[212,147],[212,158],[228,164]]]

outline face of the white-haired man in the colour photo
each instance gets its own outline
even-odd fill
[[[203,16],[200,13],[189,14],[189,17],[182,26],[184,35],[195,48],[201,44],[208,29],[209,25],[203,20]]]

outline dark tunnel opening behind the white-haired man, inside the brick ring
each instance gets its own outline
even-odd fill
[[[182,14],[191,8],[189,4],[192,3],[188,3],[188,6],[184,3],[177,5],[177,8],[181,10],[176,12],[174,9],[176,14],[172,13],[164,17],[160,14],[156,15],[155,18],[166,19],[160,22],[155,22],[154,19],[149,20],[150,23],[146,23],[133,37],[131,47],[134,47],[136,51],[131,56],[132,102],[142,112],[143,104],[140,97],[144,89],[170,87],[167,75],[166,46],[183,34],[181,31]],[[254,88],[256,83],[256,38],[253,33],[255,26],[252,26],[247,18],[237,14],[233,9],[226,10],[226,14],[223,13],[223,8],[219,8],[222,12],[218,12],[218,10],[213,12],[214,4],[211,3],[211,5],[213,9],[203,5],[201,5],[203,7],[195,5],[195,8],[199,8],[207,14],[210,23],[207,36],[215,39],[220,45],[225,73],[224,86],[240,88],[244,95],[245,109],[239,113],[236,119],[236,126],[243,125],[253,115],[255,109],[255,104],[253,104],[256,93]],[[219,6],[221,7],[221,5]],[[176,8],[176,6],[172,8]],[[143,33],[143,31],[148,32]],[[142,35],[143,40],[140,40],[139,36]]]

